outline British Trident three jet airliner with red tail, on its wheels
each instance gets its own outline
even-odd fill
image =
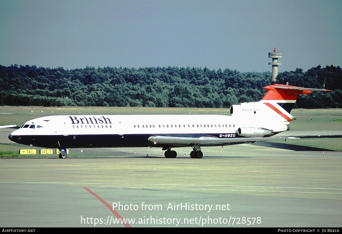
[[[258,102],[232,105],[229,114],[55,115],[30,120],[11,133],[11,141],[43,148],[159,147],[175,158],[177,147],[191,147],[190,157],[203,157],[201,147],[229,146],[269,139],[290,129],[297,97],[324,89],[273,84]],[[291,138],[291,137],[288,137]],[[292,137],[294,138],[294,137]]]

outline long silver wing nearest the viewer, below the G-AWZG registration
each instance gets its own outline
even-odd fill
[[[296,137],[241,137],[241,138],[216,138],[216,137],[169,137],[169,136],[152,136],[148,140],[155,144],[168,144],[177,147],[187,146],[224,146],[229,143],[249,143],[263,140],[275,139],[299,139]]]

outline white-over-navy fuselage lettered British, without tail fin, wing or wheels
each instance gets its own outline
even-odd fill
[[[239,138],[240,127],[282,132],[286,123],[241,115],[56,115],[28,121],[11,140],[46,148],[158,147],[148,138]]]

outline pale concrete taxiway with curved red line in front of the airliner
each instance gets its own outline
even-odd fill
[[[2,158],[1,225],[123,227],[117,213],[132,227],[342,225],[341,152],[245,144],[203,159],[145,155]]]

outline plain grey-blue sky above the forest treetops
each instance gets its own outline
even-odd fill
[[[0,65],[342,66],[342,1],[0,1]]]

